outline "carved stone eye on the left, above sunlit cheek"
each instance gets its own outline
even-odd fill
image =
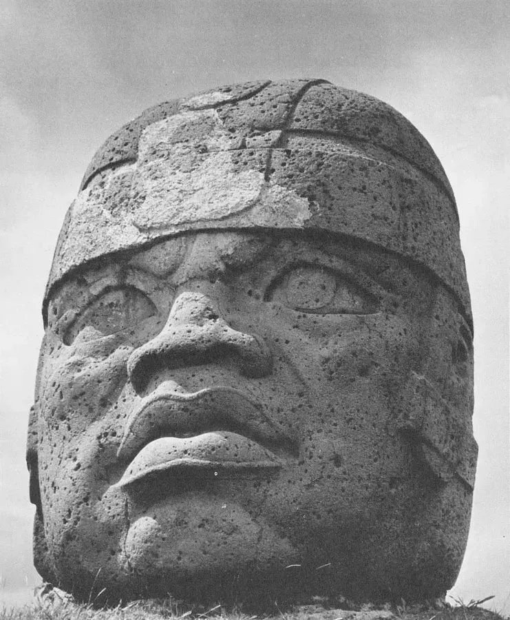
[[[71,344],[85,328],[99,332],[96,338],[110,335],[134,327],[154,314],[156,306],[142,291],[130,286],[109,288],[78,313],[65,330],[63,342]]]

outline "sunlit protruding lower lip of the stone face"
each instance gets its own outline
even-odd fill
[[[189,470],[268,471],[281,462],[271,451],[229,431],[195,437],[161,437],[145,446],[115,485],[128,486],[153,473]]]

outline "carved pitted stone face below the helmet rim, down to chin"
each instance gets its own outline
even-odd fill
[[[471,385],[454,298],[374,245],[194,232],[103,257],[48,306],[40,570],[85,597],[440,592]]]

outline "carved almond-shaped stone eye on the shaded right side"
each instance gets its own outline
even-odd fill
[[[311,314],[371,314],[376,298],[334,269],[301,265],[275,280],[266,301]]]

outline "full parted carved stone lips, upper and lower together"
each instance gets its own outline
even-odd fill
[[[117,452],[129,464],[115,486],[185,468],[262,473],[297,457],[297,442],[253,397],[231,386],[178,387],[163,382],[129,416]]]

